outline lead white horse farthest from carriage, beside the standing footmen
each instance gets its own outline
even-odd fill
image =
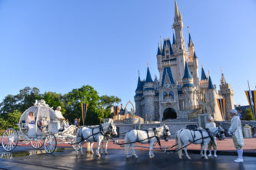
[[[204,159],[208,159],[206,155],[206,150],[208,143],[211,141],[211,138],[217,136],[219,140],[224,139],[224,129],[221,126],[216,128],[210,129],[197,129],[197,130],[190,130],[190,129],[180,129],[176,134],[176,145],[178,145],[178,157],[182,159],[182,147],[184,147],[185,155],[188,159],[191,159],[188,155],[187,145],[188,142],[193,144],[201,144],[201,156]],[[203,154],[203,146],[204,146],[204,154]],[[177,150],[176,149],[176,150]]]

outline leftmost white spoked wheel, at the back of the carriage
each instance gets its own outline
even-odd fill
[[[6,129],[2,134],[2,147],[5,151],[12,151],[18,143],[18,132],[15,129]]]

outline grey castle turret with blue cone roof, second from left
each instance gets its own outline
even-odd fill
[[[147,70],[147,77],[143,87],[143,96],[144,96],[144,103],[145,103],[145,113],[142,113],[141,116],[145,118],[145,114],[147,114],[148,120],[150,116],[152,120],[154,120],[155,119],[155,104],[154,104],[155,89],[154,89],[154,82],[151,78],[149,68]]]

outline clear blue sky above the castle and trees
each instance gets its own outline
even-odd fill
[[[0,101],[24,87],[68,93],[89,84],[134,100],[138,70],[158,75],[160,36],[172,37],[174,0],[0,0]],[[219,89],[220,67],[247,105],[256,85],[256,1],[178,0],[184,35]]]

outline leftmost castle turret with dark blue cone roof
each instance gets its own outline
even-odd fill
[[[144,81],[141,81],[140,75],[138,75],[138,84],[135,90],[135,114],[138,116],[142,116],[141,100],[143,96],[143,85]]]

